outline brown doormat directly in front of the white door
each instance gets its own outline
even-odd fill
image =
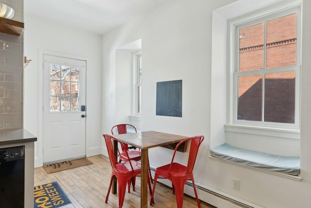
[[[89,161],[87,158],[80,158],[80,159],[74,159],[74,160],[68,160],[68,161],[62,161],[62,162],[55,162],[52,164],[46,164],[43,166],[44,170],[47,173],[55,173],[58,171],[65,171],[71,168],[77,168],[84,165],[90,165],[93,164],[91,161]]]

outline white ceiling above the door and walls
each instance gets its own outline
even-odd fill
[[[24,0],[24,12],[102,35],[166,1]]]

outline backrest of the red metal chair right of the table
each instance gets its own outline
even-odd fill
[[[186,141],[190,141],[190,150],[189,150],[189,157],[188,157],[187,173],[192,172],[193,168],[194,168],[194,163],[195,163],[195,160],[196,160],[196,156],[198,155],[199,147],[200,147],[200,145],[201,145],[203,140],[204,140],[204,136],[194,136],[194,137],[190,137],[190,138],[187,138],[187,139],[184,139],[184,140],[180,141],[176,145],[176,147],[175,147],[171,164],[173,163],[173,160],[174,160],[177,148],[182,143],[184,143]]]

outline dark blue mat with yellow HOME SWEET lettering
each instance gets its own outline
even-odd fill
[[[40,186],[35,186],[34,197],[34,208],[58,208],[64,205],[71,204],[68,196],[59,186],[57,181]]]

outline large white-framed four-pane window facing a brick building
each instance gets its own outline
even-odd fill
[[[300,6],[230,22],[230,124],[299,129]]]

